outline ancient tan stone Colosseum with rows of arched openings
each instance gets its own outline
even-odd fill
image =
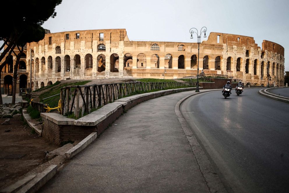
[[[197,43],[130,41],[126,29],[47,33],[27,44],[27,86],[30,75],[32,89],[66,79],[196,76],[197,57]],[[200,44],[199,69],[245,84],[267,85],[269,77],[283,86],[284,48],[263,40],[261,49],[253,37],[211,32]]]

